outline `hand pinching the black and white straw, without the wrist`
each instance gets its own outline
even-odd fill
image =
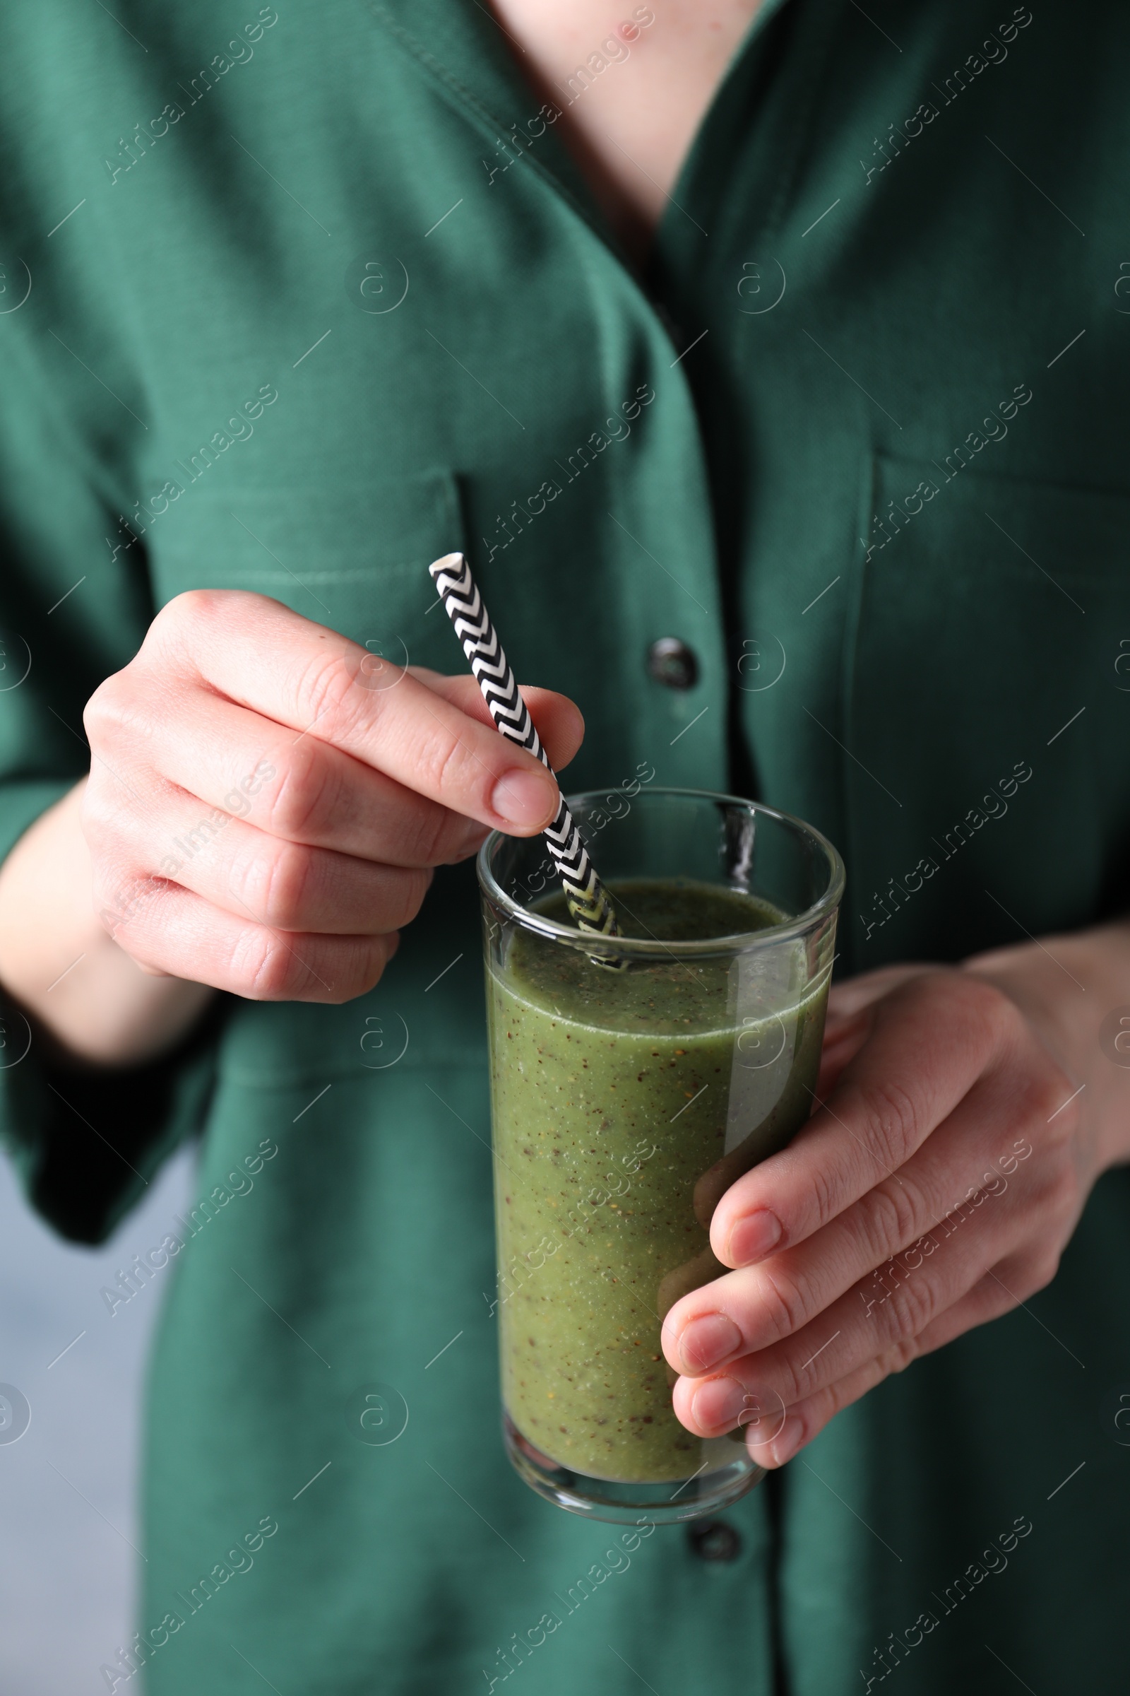
[[[527,700],[566,765],[581,714]],[[473,677],[390,665],[254,594],[169,602],[85,722],[102,923],[147,970],[258,1001],[371,989],[434,867],[557,811]]]

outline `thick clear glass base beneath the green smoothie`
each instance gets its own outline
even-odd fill
[[[522,1437],[505,1408],[501,1430],[510,1464],[530,1489],[546,1501],[568,1508],[569,1513],[607,1520],[612,1525],[635,1525],[642,1518],[652,1525],[700,1520],[728,1508],[766,1476],[766,1469],[757,1465],[744,1445],[720,1437],[701,1443],[700,1452],[706,1453],[708,1460],[705,1469],[691,1477],[664,1479],[659,1484],[620,1484],[557,1465]]]

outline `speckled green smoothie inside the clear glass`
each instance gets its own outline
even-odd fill
[[[610,892],[627,936],[676,945],[784,918],[690,880]],[[569,923],[562,897],[539,911]],[[776,950],[771,980],[754,953],[612,972],[520,931],[490,974],[503,1404],[571,1470],[662,1482],[701,1465],[661,1319],[725,1272],[713,1208],[808,1118],[823,1036],[827,974],[806,984],[803,945]]]

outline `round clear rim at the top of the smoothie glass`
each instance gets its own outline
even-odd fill
[[[573,795],[566,795],[569,807],[576,807],[586,801],[593,801],[600,795],[607,795],[607,789],[584,789]],[[808,838],[825,856],[828,867],[828,887],[825,892],[813,901],[810,907],[798,912],[793,919],[784,919],[781,924],[769,924],[759,931],[737,931],[730,936],[706,936],[700,941],[662,941],[659,938],[647,936],[603,936],[596,931],[579,931],[571,924],[559,924],[557,919],[546,918],[544,912],[532,912],[530,907],[520,906],[513,895],[508,895],[501,887],[495,872],[491,868],[491,853],[501,841],[525,841],[532,843],[534,836],[510,836],[507,831],[491,831],[478,855],[474,856],[474,868],[478,873],[479,890],[486,895],[493,906],[500,907],[507,918],[515,919],[529,931],[535,931],[552,941],[566,943],[571,948],[581,948],[584,953],[593,953],[593,945],[600,943],[600,953],[615,953],[629,958],[654,960],[662,955],[671,957],[679,955],[713,955],[713,953],[735,953],[737,950],[751,948],[771,948],[776,943],[789,941],[796,936],[803,936],[806,931],[820,924],[822,919],[834,914],[840,901],[844,899],[844,884],[847,879],[844,860],[832,841],[818,831],[813,824],[806,824],[805,819],[798,819],[793,812],[784,812],[781,807],[771,807],[764,801],[751,801],[745,795],[727,795],[712,789],[674,789],[667,785],[659,785],[657,789],[649,789],[647,795],[667,795],[667,797],[684,797],[688,801],[712,801],[722,802],[732,807],[742,807],[747,812],[762,814],[766,817],[776,819],[779,824],[786,824],[798,836]],[[632,797],[635,801],[639,797]],[[627,817],[627,814],[625,814]],[[554,884],[557,880],[554,879]]]

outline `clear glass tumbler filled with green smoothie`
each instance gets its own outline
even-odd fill
[[[732,795],[634,778],[569,806],[623,936],[573,926],[542,838],[478,860],[505,1443],[561,1508],[691,1520],[764,1476],[784,1409],[691,1437],[662,1319],[727,1270],[718,1197],[811,1109],[844,865]]]

